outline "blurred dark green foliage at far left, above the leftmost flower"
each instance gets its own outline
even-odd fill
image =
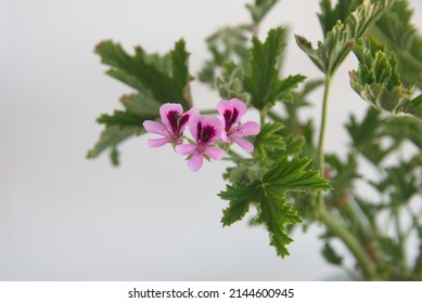
[[[92,159],[110,148],[112,163],[118,164],[117,145],[135,134],[142,134],[142,122],[157,119],[163,103],[180,103],[184,109],[191,107],[189,53],[183,40],[176,42],[175,49],[163,56],[146,54],[141,48],[136,48],[130,55],[113,41],[98,44],[95,53],[110,66],[107,75],[137,90],[120,98],[124,110],[98,118],[105,129],[87,155]]]

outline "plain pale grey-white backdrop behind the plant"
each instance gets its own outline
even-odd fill
[[[245,222],[221,228],[216,194],[225,163],[192,173],[169,146],[146,136],[106,155],[85,158],[102,127],[131,90],[105,76],[93,54],[103,39],[127,49],[167,52],[183,37],[191,73],[208,57],[205,36],[248,21],[243,0],[0,1],[0,279],[2,280],[315,280],[342,271],[320,256],[321,229],[298,229],[281,260],[267,232]],[[317,0],[282,0],[261,28],[289,25],[285,74],[321,76],[293,34],[321,39]],[[421,1],[411,1],[422,26]],[[351,92],[350,56],[331,94],[327,148],[344,150],[342,124],[367,104]],[[200,107],[218,96],[194,83]],[[319,116],[321,94],[310,115]],[[317,118],[317,121],[319,119]]]

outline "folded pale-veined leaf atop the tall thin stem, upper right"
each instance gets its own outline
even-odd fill
[[[317,49],[302,36],[296,36],[296,42],[322,73],[333,75],[347,56],[350,40],[362,37],[394,1],[380,0],[372,3],[370,0],[363,0],[345,23],[336,22],[327,32],[324,41],[318,43]]]

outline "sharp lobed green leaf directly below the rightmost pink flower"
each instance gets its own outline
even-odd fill
[[[266,129],[268,133],[269,130],[276,130],[277,126]],[[266,162],[264,167],[250,167],[248,169],[258,171],[255,180],[233,181],[234,185],[227,185],[226,190],[219,194],[222,199],[229,200],[229,207],[223,210],[221,220],[223,225],[241,220],[253,202],[258,209],[255,223],[266,225],[270,245],[276,248],[278,255],[289,255],[286,246],[292,239],[286,225],[299,223],[300,216],[290,205],[286,193],[315,193],[331,188],[319,172],[309,168],[309,159],[285,156],[271,164]]]

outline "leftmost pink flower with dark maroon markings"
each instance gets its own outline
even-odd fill
[[[192,107],[183,114],[183,108],[177,103],[166,103],[159,107],[159,116],[162,123],[156,121],[144,121],[142,126],[148,132],[159,134],[163,137],[150,139],[150,147],[159,147],[166,143],[181,144],[181,136],[188,126],[188,121],[192,114],[196,114],[197,109]]]

